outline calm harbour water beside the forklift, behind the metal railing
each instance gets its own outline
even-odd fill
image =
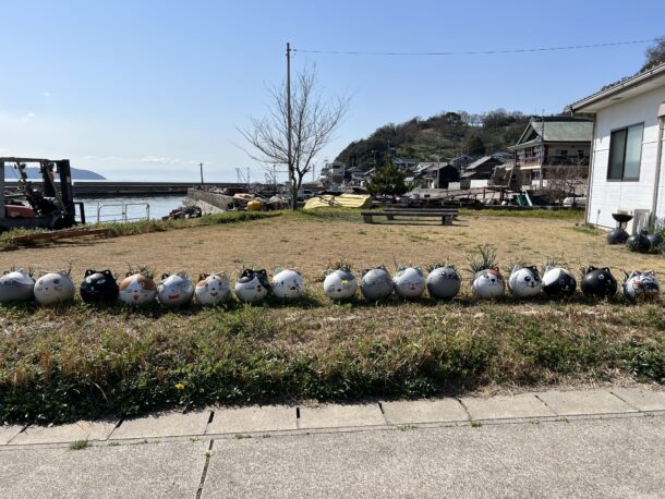
[[[97,221],[99,210],[100,221],[122,220],[123,210],[128,220],[141,218],[161,218],[172,209],[182,205],[184,196],[146,196],[146,197],[89,197],[75,199],[83,202],[85,207],[85,218],[88,223]]]

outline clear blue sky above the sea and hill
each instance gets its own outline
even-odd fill
[[[324,96],[351,96],[321,167],[413,117],[559,112],[639,70],[649,44],[459,52],[665,35],[662,0],[0,0],[0,156],[69,158],[118,181],[196,182],[200,162],[206,181],[237,168],[264,180],[238,129],[266,113],[287,41],[294,72],[314,65]]]

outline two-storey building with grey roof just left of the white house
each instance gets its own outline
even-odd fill
[[[522,185],[543,186],[548,171],[589,165],[593,120],[576,117],[533,118],[517,144],[508,147]],[[510,168],[508,168],[510,169]]]

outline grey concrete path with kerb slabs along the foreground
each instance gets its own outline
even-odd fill
[[[658,497],[663,470],[646,388],[0,427],[2,497]]]

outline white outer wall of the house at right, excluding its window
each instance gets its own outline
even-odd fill
[[[658,137],[658,106],[665,101],[665,87],[646,94],[619,100],[602,109],[596,114],[593,138],[593,171],[587,221],[602,227],[615,227],[612,214],[617,210],[632,212],[636,209],[651,209],[656,166]],[[609,161],[609,136],[613,130],[644,123],[642,137],[642,160],[638,182],[607,181]],[[658,208],[656,216],[665,216],[665,165],[662,166],[658,182]]]

